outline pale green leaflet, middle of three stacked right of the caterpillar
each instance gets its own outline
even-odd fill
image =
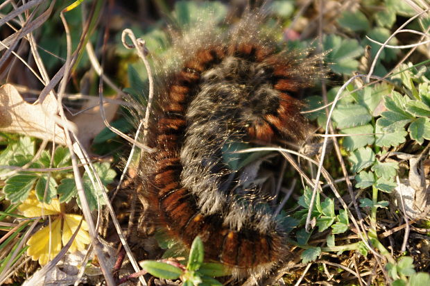
[[[375,135],[373,135],[374,129],[371,124],[356,126],[352,128],[344,128],[341,130],[341,133],[351,135],[345,137],[342,143],[345,149],[347,149],[348,151],[354,151],[355,149],[359,149],[360,147],[364,147],[375,142]]]

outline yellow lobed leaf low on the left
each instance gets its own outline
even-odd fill
[[[37,230],[27,242],[27,255],[33,260],[39,260],[41,265],[51,261],[60,252],[62,246],[69,242],[82,219],[79,214],[65,214],[58,199],[52,199],[50,204],[41,203],[37,200],[35,192],[31,192],[24,203],[18,206],[18,210],[26,217],[57,216],[50,226]],[[50,241],[51,244],[49,244]],[[83,221],[69,252],[83,251],[89,242],[91,238],[88,234],[88,225]]]

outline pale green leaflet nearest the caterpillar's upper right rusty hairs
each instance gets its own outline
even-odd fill
[[[336,121],[338,128],[349,128],[361,126],[372,120],[367,108],[359,104],[349,104],[336,106],[333,112],[333,120]]]

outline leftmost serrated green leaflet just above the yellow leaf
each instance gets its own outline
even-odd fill
[[[11,203],[19,203],[27,199],[28,194],[33,190],[35,180],[39,176],[36,174],[17,174],[8,178],[3,187],[6,199]]]

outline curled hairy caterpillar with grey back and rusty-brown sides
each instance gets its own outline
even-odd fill
[[[270,269],[289,253],[279,219],[257,190],[239,192],[222,149],[231,142],[304,140],[294,94],[322,74],[320,56],[284,51],[259,15],[215,35],[203,27],[175,42],[178,62],[158,67],[155,108],[140,178],[158,226],[184,246],[200,235],[205,257],[236,274]],[[191,36],[190,36],[191,35]]]

